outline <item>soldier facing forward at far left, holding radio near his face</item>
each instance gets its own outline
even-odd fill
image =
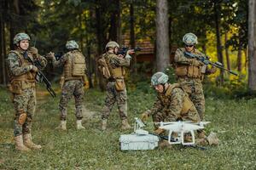
[[[32,142],[32,118],[36,109],[36,74],[38,67],[32,65],[26,57],[40,63],[43,69],[47,60],[38,54],[37,48],[29,48],[30,37],[18,33],[14,37],[15,50],[11,50],[6,59],[9,72],[9,90],[15,106],[15,149],[28,151],[41,149],[41,145]],[[41,67],[40,66],[40,67]]]

